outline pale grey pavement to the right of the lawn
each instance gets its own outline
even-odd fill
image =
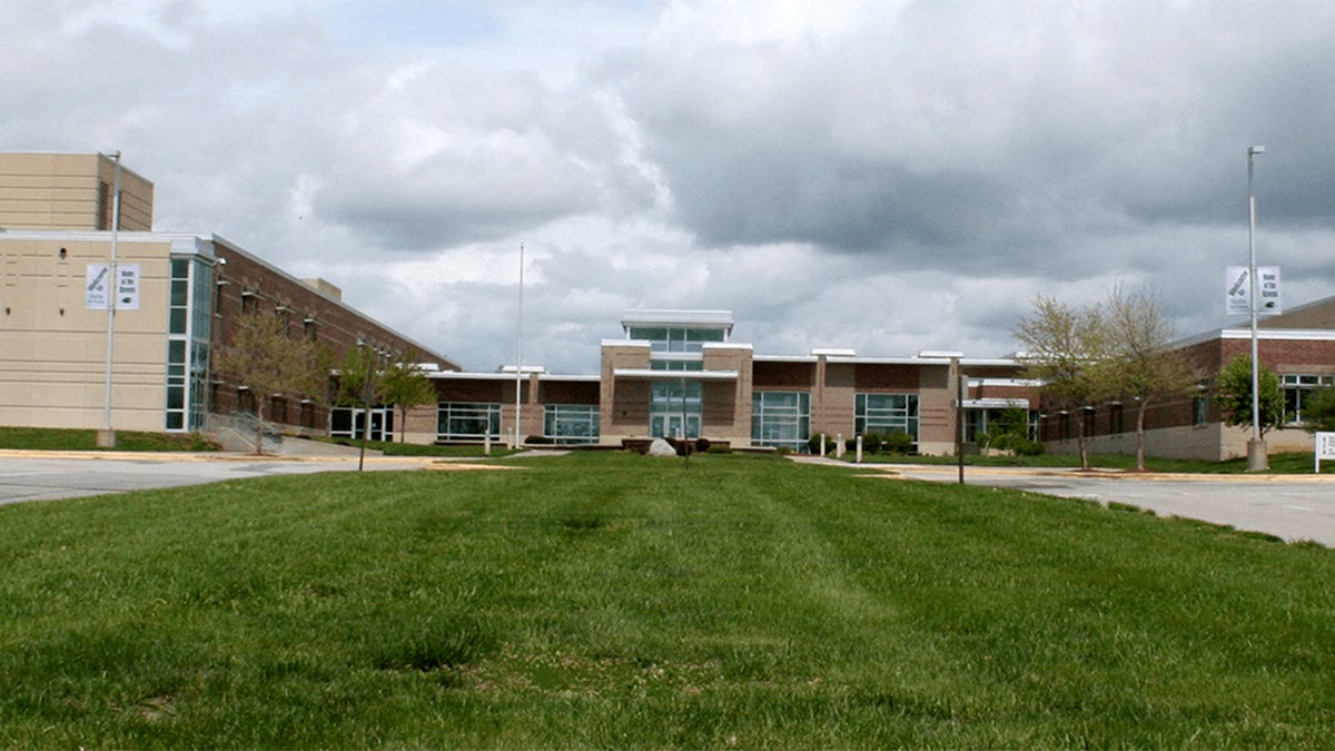
[[[842,466],[864,474],[959,482],[959,468],[928,464],[849,464],[793,456],[794,461]],[[1335,476],[1318,474],[1160,474],[1077,469],[964,468],[967,485],[1012,488],[1049,496],[1120,502],[1288,541],[1335,547]]]

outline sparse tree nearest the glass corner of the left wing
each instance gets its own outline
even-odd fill
[[[255,400],[255,453],[264,453],[264,406],[278,396],[323,396],[328,381],[322,350],[287,335],[276,315],[252,313],[240,319],[218,369],[250,389]]]

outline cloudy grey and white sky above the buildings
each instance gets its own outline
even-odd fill
[[[5,0],[0,150],[113,151],[470,370],[631,307],[764,354],[993,357],[1039,294],[1335,294],[1335,3]]]

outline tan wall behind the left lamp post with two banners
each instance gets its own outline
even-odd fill
[[[115,429],[164,429],[168,255],[167,242],[119,243],[140,266],[140,305],[116,314]],[[0,237],[0,425],[103,426],[107,311],[84,307],[84,282],[107,261],[104,242]]]

